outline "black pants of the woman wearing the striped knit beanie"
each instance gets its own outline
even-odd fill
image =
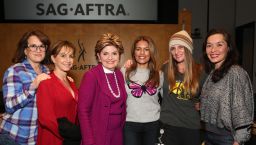
[[[163,125],[164,145],[200,145],[200,130]]]

